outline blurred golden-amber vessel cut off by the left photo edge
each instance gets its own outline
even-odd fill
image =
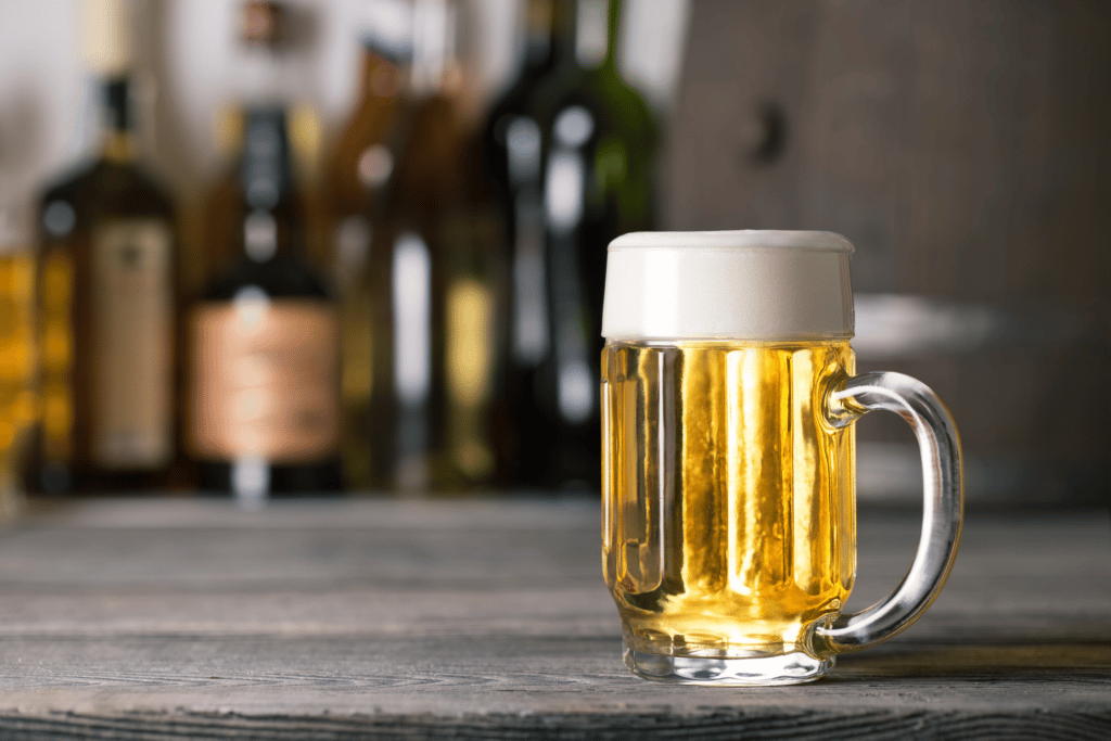
[[[23,210],[0,183],[0,522],[23,509],[23,443],[34,422],[34,254]]]

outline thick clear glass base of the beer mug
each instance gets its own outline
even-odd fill
[[[812,682],[833,669],[833,657],[815,659],[801,651],[745,659],[669,657],[638,651],[625,644],[624,663],[632,673],[653,682],[761,687]]]

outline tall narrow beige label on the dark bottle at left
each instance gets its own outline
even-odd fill
[[[159,219],[92,232],[91,454],[106,469],[173,457],[172,234]]]

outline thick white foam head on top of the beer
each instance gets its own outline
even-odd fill
[[[634,232],[610,242],[610,340],[853,334],[852,244],[827,231]]]

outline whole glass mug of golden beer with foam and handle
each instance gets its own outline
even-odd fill
[[[829,232],[644,232],[609,247],[602,313],[602,550],[645,679],[785,684],[905,629],[957,554],[949,412],[920,381],[855,374],[849,259]],[[924,522],[882,601],[855,574],[852,422],[900,414],[922,451]]]

